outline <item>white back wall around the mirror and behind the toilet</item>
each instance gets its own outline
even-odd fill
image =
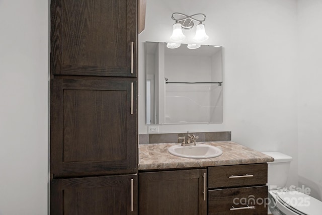
[[[145,41],[168,42],[171,15],[204,13],[209,39],[222,45],[223,123],[160,125],[160,133],[231,131],[232,140],[259,151],[294,158],[290,184],[297,184],[296,0],[147,1]],[[194,30],[184,31],[188,43]],[[139,48],[139,133],[144,124],[144,53]]]

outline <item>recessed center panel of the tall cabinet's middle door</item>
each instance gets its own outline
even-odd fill
[[[126,123],[119,120],[126,119],[128,104],[122,100],[126,93],[111,90],[63,91],[64,162],[126,159],[125,144],[117,147],[106,144],[107,140],[126,142],[126,136],[121,133],[126,130]],[[117,132],[116,135],[111,135],[111,131]]]

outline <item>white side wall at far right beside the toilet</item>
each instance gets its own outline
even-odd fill
[[[322,200],[322,0],[298,1],[298,173]]]

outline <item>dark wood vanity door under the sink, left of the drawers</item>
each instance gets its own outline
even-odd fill
[[[139,173],[139,214],[207,214],[205,180],[206,169]]]

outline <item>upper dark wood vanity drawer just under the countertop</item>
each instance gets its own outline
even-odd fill
[[[266,163],[208,168],[208,188],[253,186],[266,183]]]

